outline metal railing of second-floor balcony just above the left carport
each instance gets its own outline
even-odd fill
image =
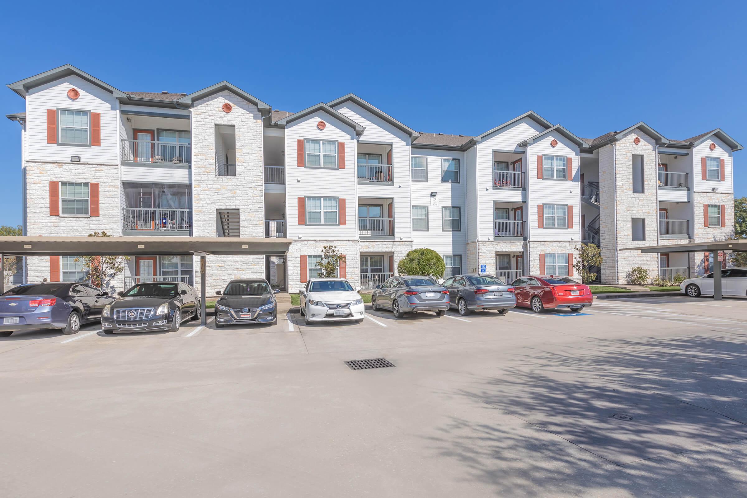
[[[191,209],[124,208],[123,235],[189,235]]]

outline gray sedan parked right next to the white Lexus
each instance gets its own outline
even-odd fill
[[[430,277],[392,277],[376,285],[371,294],[371,308],[391,310],[395,318],[423,311],[435,311],[443,317],[449,309],[449,291]]]

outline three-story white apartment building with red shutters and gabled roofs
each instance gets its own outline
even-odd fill
[[[208,257],[208,291],[266,277],[290,291],[317,274],[372,288],[410,249],[447,275],[573,276],[577,246],[601,246],[604,283],[630,268],[702,273],[702,255],[626,247],[718,240],[734,226],[732,155],[716,129],[669,140],[643,122],[594,139],[532,111],[475,137],[423,133],[348,94],[270,108],[226,81],[194,93],[123,92],[73,66],[8,85],[21,125],[27,235],[288,237],[287,255]],[[116,287],[199,284],[191,256],[130,258]],[[85,278],[74,257],[27,258],[26,281]]]

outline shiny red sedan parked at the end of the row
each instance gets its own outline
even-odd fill
[[[545,308],[568,308],[581,311],[592,305],[592,291],[567,277],[524,276],[511,284],[516,289],[516,305],[542,313]]]

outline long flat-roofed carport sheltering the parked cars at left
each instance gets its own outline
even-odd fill
[[[205,325],[205,256],[282,256],[290,245],[290,239],[258,237],[0,237],[0,262],[4,256],[199,255],[200,321]],[[4,277],[0,263],[0,293]]]

